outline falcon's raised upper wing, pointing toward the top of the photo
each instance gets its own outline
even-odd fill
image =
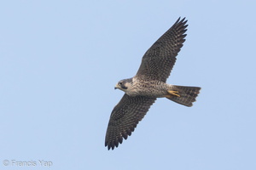
[[[166,82],[175,64],[177,53],[185,42],[187,20],[178,20],[144,54],[136,77],[143,80]]]

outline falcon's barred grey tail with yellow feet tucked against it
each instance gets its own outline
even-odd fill
[[[167,99],[191,107],[195,98],[199,94],[201,88],[199,87],[188,87],[188,86],[175,86],[168,90],[168,94],[165,96]]]

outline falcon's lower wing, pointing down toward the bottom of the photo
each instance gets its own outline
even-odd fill
[[[119,104],[113,108],[108,122],[105,139],[108,150],[118,147],[119,143],[122,144],[123,138],[127,139],[128,135],[131,135],[137,123],[146,115],[150,105],[154,104],[155,99],[146,96],[131,97],[127,94],[123,96]]]

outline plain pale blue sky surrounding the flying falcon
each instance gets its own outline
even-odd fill
[[[256,169],[255,1],[3,1],[0,169]],[[200,86],[187,108],[158,99],[119,148],[104,139],[120,79],[177,20],[189,24],[167,82]],[[4,166],[3,161],[9,165]],[[17,166],[13,161],[36,161]]]

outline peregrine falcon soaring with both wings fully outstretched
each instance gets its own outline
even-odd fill
[[[167,98],[180,105],[192,106],[200,92],[199,87],[177,86],[166,83],[177,53],[183,47],[187,35],[188,20],[178,20],[144,54],[135,77],[119,81],[115,89],[125,92],[113,108],[106,133],[108,150],[122,144],[123,138],[134,131],[138,122],[157,98]]]

